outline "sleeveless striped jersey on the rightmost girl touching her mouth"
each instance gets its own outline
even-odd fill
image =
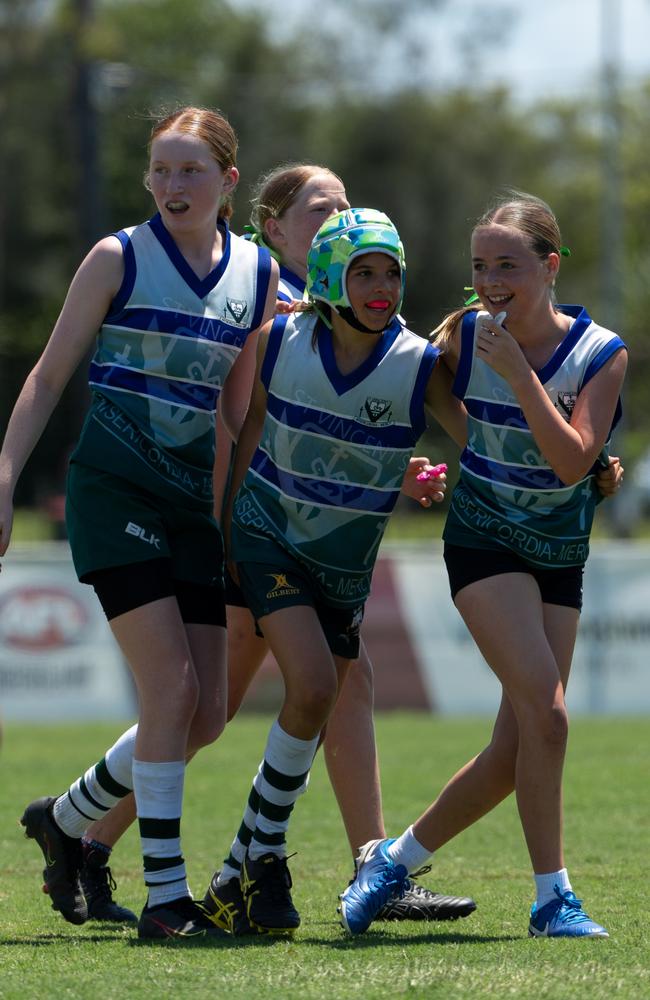
[[[559,306],[573,323],[551,359],[537,372],[567,422],[578,393],[625,345],[580,306]],[[606,447],[584,479],[566,486],[540,452],[509,383],[476,355],[479,319],[463,317],[461,354],[453,391],[468,413],[468,443],[452,494],[443,538],[474,548],[504,545],[546,568],[582,565],[601,496],[595,485]],[[617,405],[612,429],[620,417]],[[608,442],[609,443],[609,442]]]

